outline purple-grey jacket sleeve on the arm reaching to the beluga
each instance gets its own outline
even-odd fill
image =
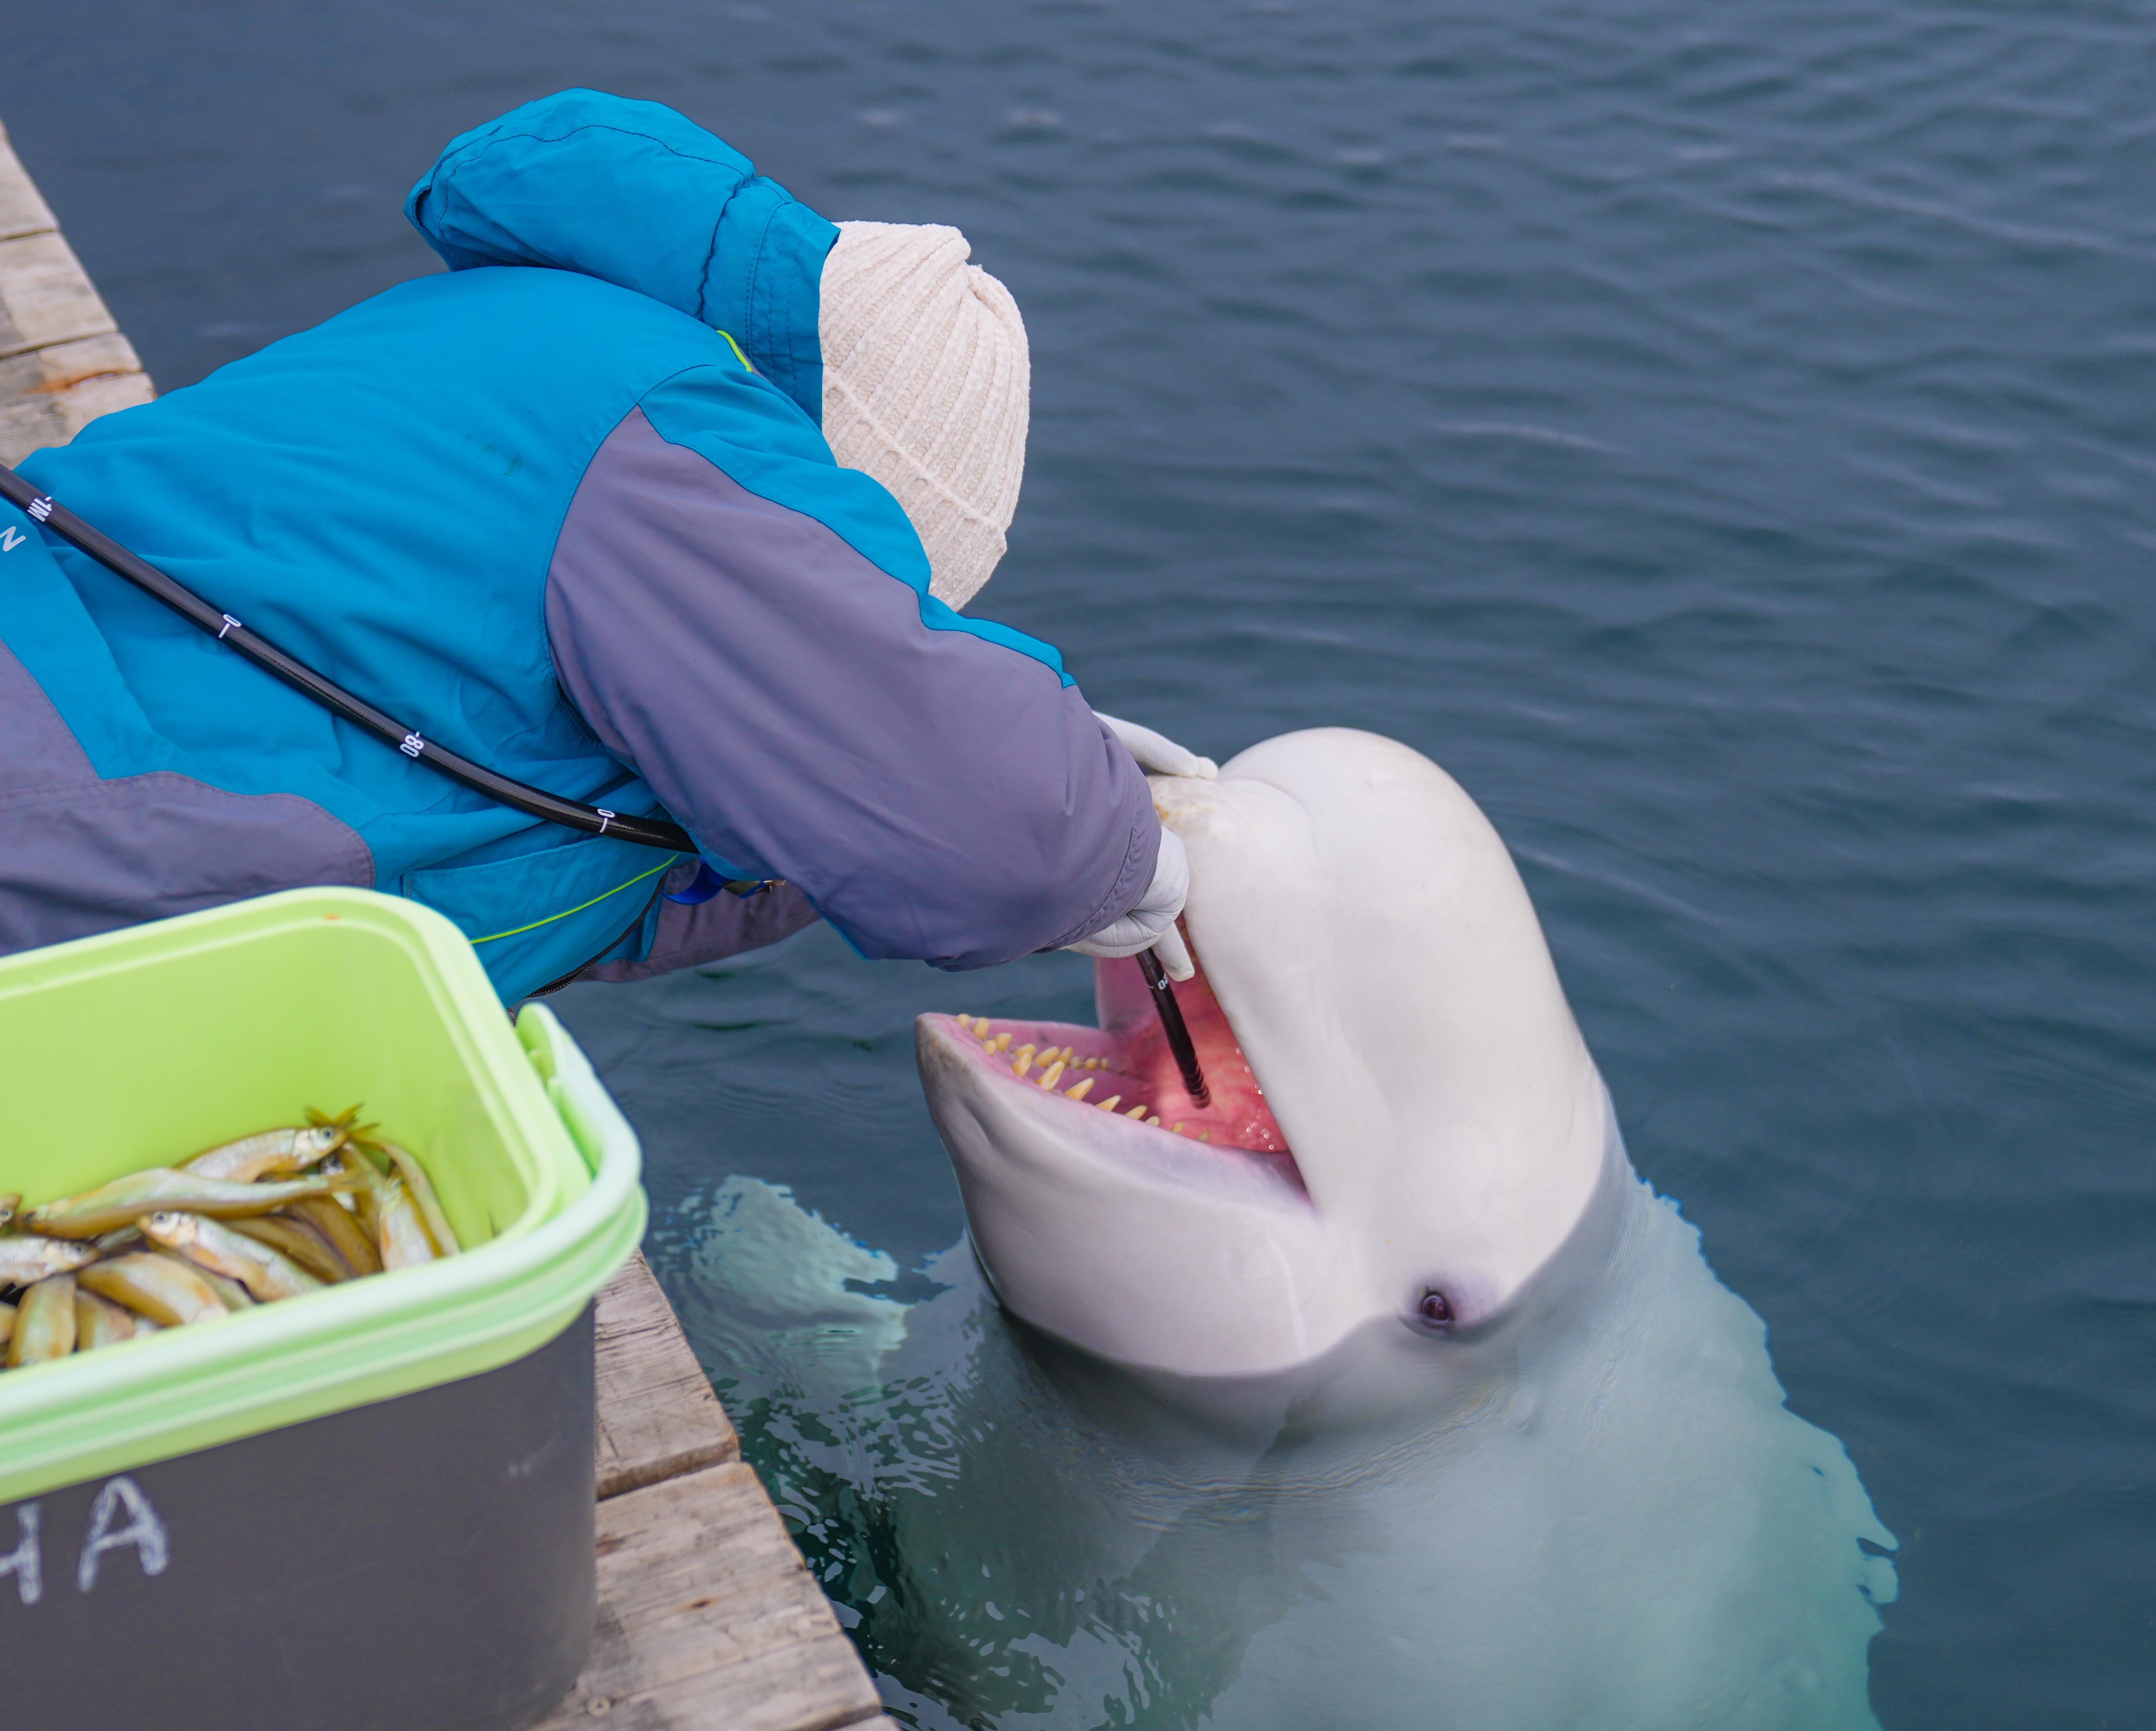
[[[705,854],[787,880],[867,957],[987,968],[1151,884],[1145,778],[1076,686],[929,629],[910,584],[640,410],[563,522],[548,636],[578,711]],[[640,972],[714,953],[699,927],[727,918],[662,918]]]

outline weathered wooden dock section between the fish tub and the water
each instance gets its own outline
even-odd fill
[[[897,1731],[636,1257],[599,1296],[599,1630],[543,1731]]]

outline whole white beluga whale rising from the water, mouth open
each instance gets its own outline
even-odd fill
[[[1095,964],[1093,1026],[918,1017],[966,1214],[942,1296],[862,1298],[832,1235],[849,1278],[802,1319],[867,1356],[817,1395],[785,1347],[744,1440],[860,1582],[886,1699],[998,1731],[1876,1731],[1895,1539],[1632,1171],[1483,813],[1348,729],[1151,785],[1210,1097],[1132,961]],[[714,1257],[714,1291],[748,1268]]]

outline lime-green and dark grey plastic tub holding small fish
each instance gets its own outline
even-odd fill
[[[448,920],[367,890],[0,959],[0,1192],[26,1205],[356,1102],[425,1162],[464,1255],[0,1373],[6,1675],[127,1653],[162,1727],[293,1731],[507,1727],[573,1679],[589,1308],[645,1196],[561,1022],[511,1026]],[[280,1666],[246,1660],[265,1638]],[[129,1688],[47,1675],[75,1727],[151,1722]]]

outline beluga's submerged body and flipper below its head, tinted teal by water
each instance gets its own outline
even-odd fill
[[[744,1451],[912,1725],[1876,1725],[1893,1537],[1621,1153],[1509,1324],[1294,1386],[1141,1384],[964,1244],[899,1302],[757,1179],[692,1261]]]

